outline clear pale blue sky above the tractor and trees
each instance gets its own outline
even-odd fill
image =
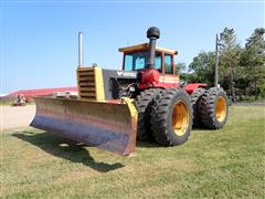
[[[76,86],[77,34],[84,33],[89,66],[120,69],[118,48],[148,42],[160,29],[159,46],[179,52],[189,65],[214,51],[215,34],[235,30],[244,45],[264,27],[264,1],[206,0],[1,0],[1,91]]]

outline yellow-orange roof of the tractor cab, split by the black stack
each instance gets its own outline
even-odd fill
[[[149,45],[148,43],[142,43],[142,44],[138,44],[138,45],[119,48],[118,51],[124,52],[124,53],[129,53],[129,52],[134,52],[134,51],[146,51],[146,50],[148,50],[148,45]],[[156,50],[160,51],[160,52],[169,53],[169,54],[178,54],[178,51],[173,51],[173,50],[165,49],[165,48],[160,48],[160,46],[156,46]]]

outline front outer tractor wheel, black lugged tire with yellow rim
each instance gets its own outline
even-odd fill
[[[166,90],[157,97],[151,111],[155,140],[162,146],[181,145],[192,127],[190,96],[182,88]]]

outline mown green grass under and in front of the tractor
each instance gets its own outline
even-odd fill
[[[7,198],[264,198],[265,106],[232,106],[224,129],[130,158],[33,128],[3,132],[0,153]]]

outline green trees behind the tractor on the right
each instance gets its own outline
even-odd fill
[[[219,84],[232,101],[265,97],[264,28],[255,29],[242,46],[234,29],[225,28],[219,40]],[[200,52],[188,66],[178,63],[177,71],[187,82],[214,85],[215,52]]]

